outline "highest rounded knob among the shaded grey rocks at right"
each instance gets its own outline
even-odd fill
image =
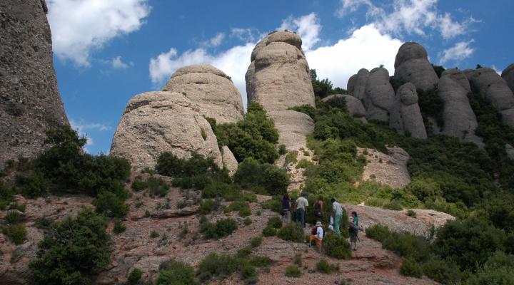
[[[430,90],[437,86],[438,76],[419,43],[403,43],[395,58],[395,78],[413,83],[416,89]]]

